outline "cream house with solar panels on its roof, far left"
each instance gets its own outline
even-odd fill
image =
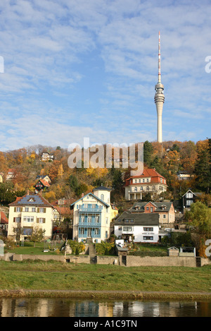
[[[45,230],[45,238],[51,238],[53,229],[53,205],[39,194],[25,194],[9,204],[8,236],[15,237],[15,229],[23,228],[23,237],[32,234],[35,227]]]

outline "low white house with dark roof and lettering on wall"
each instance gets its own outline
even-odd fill
[[[136,243],[158,243],[159,215],[125,211],[115,220],[114,233],[118,239]]]

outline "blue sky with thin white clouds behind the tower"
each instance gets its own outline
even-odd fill
[[[155,141],[159,30],[162,138],[210,138],[211,4],[179,2],[1,0],[0,150]]]

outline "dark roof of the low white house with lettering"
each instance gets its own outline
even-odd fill
[[[132,219],[134,222],[124,222],[125,219]],[[123,212],[120,217],[115,220],[115,225],[158,225],[159,224],[159,214],[155,213],[134,213],[134,212]]]

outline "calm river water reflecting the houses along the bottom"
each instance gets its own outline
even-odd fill
[[[211,301],[0,299],[0,317],[211,317]]]

